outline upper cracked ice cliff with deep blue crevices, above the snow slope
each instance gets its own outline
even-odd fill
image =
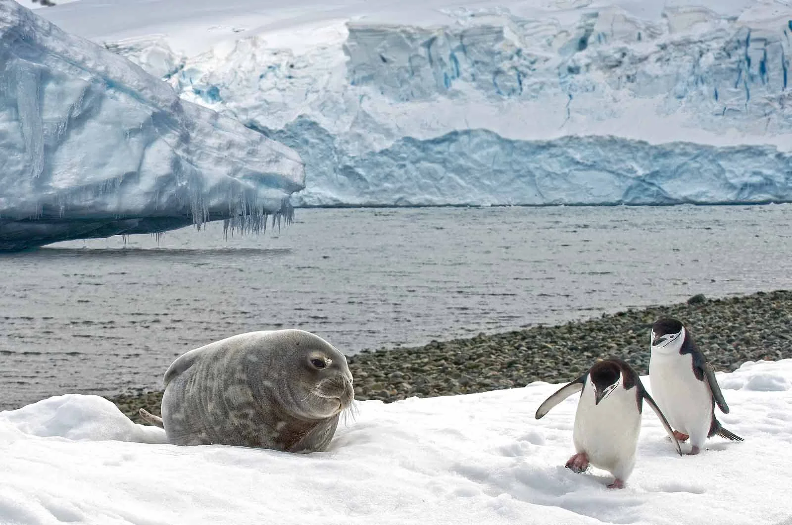
[[[630,110],[615,102],[638,99],[661,115],[687,109],[697,128],[764,134],[792,129],[790,17],[733,20],[689,7],[650,23],[611,8],[566,26],[502,14],[474,17],[472,27],[350,24],[344,49],[352,85],[394,102],[466,89],[493,103],[542,99],[564,117],[603,120]]]

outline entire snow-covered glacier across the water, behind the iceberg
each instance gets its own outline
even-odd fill
[[[298,151],[295,205],[792,201],[790,0],[39,12]]]

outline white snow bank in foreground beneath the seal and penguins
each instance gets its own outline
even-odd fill
[[[789,523],[788,377],[792,359],[719,373],[745,442],[695,457],[645,411],[623,490],[564,469],[577,397],[535,420],[544,382],[359,402],[314,454],[171,446],[100,397],[53,397],[0,412],[0,523]]]

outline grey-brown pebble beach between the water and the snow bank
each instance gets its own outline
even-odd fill
[[[363,351],[348,357],[357,400],[510,389],[532,381],[579,377],[596,358],[616,356],[640,374],[649,371],[649,328],[658,317],[680,319],[716,370],[745,361],[792,358],[792,291],[627,310],[590,320],[470,339],[432,341],[423,347]],[[138,423],[138,408],[159,414],[161,392],[110,398]]]

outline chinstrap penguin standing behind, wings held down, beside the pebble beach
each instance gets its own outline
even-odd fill
[[[688,454],[699,454],[704,441],[716,434],[743,441],[715,419],[715,404],[724,414],[729,413],[729,406],[713,366],[706,362],[683,324],[670,317],[655,321],[650,345],[649,385],[676,438],[690,439]]]

